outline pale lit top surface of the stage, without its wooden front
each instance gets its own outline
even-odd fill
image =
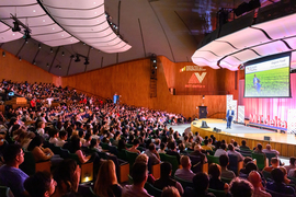
[[[228,134],[231,136],[251,138],[251,139],[257,139],[257,140],[263,140],[264,136],[269,136],[271,137],[271,141],[274,141],[274,142],[296,144],[296,138],[294,135],[278,134],[278,132],[274,132],[274,131],[270,131],[265,129],[247,127],[240,124],[231,124],[231,129],[226,129],[226,121],[223,119],[205,118],[205,119],[194,120],[192,123],[196,124],[194,125],[195,127],[201,127],[202,120],[205,120],[207,123],[207,126],[209,127],[209,128],[205,128],[206,130],[213,130],[214,127],[216,127],[218,129],[221,129],[221,134]]]

